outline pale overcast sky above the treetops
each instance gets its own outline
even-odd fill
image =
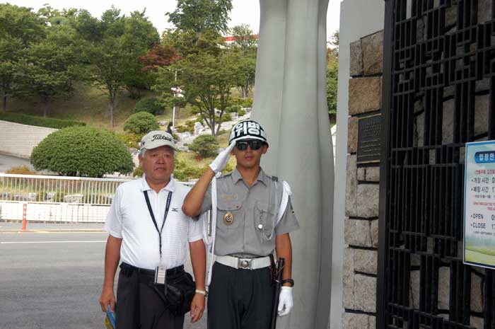
[[[330,0],[328,5],[327,36],[332,35],[334,30],[339,28],[340,1],[342,0]],[[146,8],[146,15],[160,33],[165,28],[171,27],[165,17],[165,13],[174,11],[175,5],[177,4],[177,1],[175,0],[15,0],[2,2],[8,2],[17,6],[31,7],[36,11],[44,4],[50,4],[50,6],[57,9],[71,7],[84,8],[96,17],[100,17],[103,11],[110,8],[112,4],[115,8],[119,8],[122,13],[129,13],[136,10],[141,11]],[[258,0],[233,0],[232,5],[233,8],[229,26],[233,27],[239,24],[248,24],[251,29],[257,33],[260,28],[260,2]]]

